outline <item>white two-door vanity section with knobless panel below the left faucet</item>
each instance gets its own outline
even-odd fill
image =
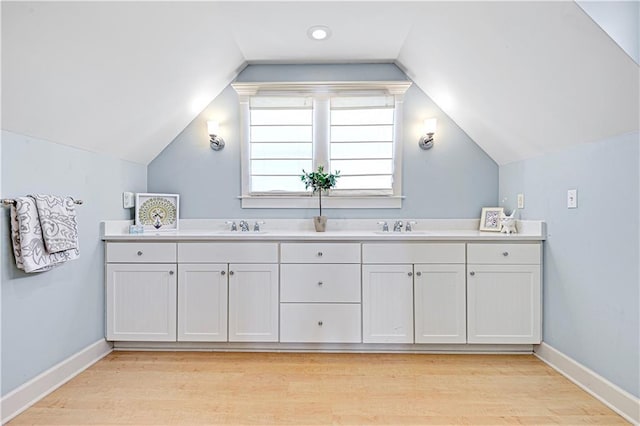
[[[178,263],[179,340],[278,341],[277,243],[178,243]]]

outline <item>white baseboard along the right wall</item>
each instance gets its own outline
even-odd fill
[[[544,342],[534,354],[626,420],[640,424],[640,399]]]

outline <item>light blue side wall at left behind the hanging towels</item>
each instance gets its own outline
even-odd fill
[[[2,395],[104,338],[100,221],[130,219],[122,192],[146,190],[146,167],[2,131],[2,197],[71,195],[78,206],[80,258],[49,272],[15,266],[9,209],[2,224]]]

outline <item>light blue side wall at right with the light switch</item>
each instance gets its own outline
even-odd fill
[[[500,197],[544,219],[543,340],[640,396],[638,133],[500,167]],[[578,208],[567,209],[567,189]]]

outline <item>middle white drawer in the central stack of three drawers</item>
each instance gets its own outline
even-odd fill
[[[360,265],[280,265],[280,301],[360,303]]]

